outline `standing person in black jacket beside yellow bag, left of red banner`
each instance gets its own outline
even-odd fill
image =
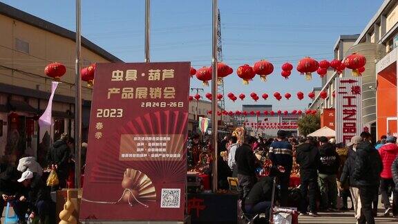
[[[68,162],[70,158],[70,148],[73,147],[73,140],[68,134],[63,133],[61,138],[54,142],[53,147],[48,151],[47,162],[50,167],[57,169],[59,186],[53,187],[53,190],[66,187],[66,178],[68,178]]]

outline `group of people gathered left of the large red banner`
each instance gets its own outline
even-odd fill
[[[62,134],[48,151],[45,169],[30,156],[20,158],[17,164],[3,161],[0,165],[0,214],[3,214],[3,205],[10,203],[18,223],[26,223],[27,215],[40,223],[55,223],[55,203],[50,192],[67,187],[69,174],[73,173],[73,145],[73,138]],[[59,184],[48,186],[48,171],[52,169],[57,173]]]

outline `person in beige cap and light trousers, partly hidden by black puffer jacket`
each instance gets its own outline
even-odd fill
[[[348,154],[347,160],[343,167],[343,171],[340,176],[341,185],[348,184],[350,186],[350,194],[354,203],[354,216],[359,219],[361,216],[361,200],[359,198],[359,185],[356,180],[354,180],[354,165],[357,159],[357,146],[362,142],[361,136],[353,136],[350,142],[347,143]]]

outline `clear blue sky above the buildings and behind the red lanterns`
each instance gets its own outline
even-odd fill
[[[75,1],[1,0],[10,6],[75,30]],[[144,0],[82,0],[82,34],[124,62],[144,60]],[[225,80],[225,95],[245,93],[245,101],[226,100],[227,110],[254,104],[249,94],[268,93],[274,110],[305,109],[310,100],[296,100],[321,80],[311,82],[294,71],[289,80],[281,77],[281,64],[296,63],[305,56],[332,59],[332,48],[339,35],[360,33],[377,12],[382,0],[283,1],[219,0],[222,53],[224,62],[234,68]],[[255,78],[243,86],[235,71],[243,64],[267,59],[275,70],[267,82]],[[190,61],[192,66],[211,64],[211,0],[151,1],[151,62]],[[196,79],[191,87],[201,87]],[[291,93],[290,100],[274,100],[274,91]],[[205,93],[210,88],[205,88]],[[205,93],[202,93],[204,96]]]

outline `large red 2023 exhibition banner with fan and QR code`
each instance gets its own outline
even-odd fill
[[[184,219],[189,68],[97,64],[80,220]]]

